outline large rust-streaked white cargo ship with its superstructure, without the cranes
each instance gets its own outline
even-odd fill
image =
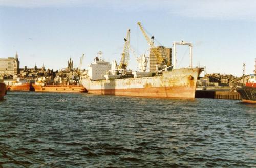
[[[143,55],[142,55],[143,56]],[[141,56],[141,57],[142,57]],[[144,59],[143,59],[144,58]],[[96,57],[88,74],[81,82],[88,93],[120,96],[195,98],[196,83],[203,68],[181,68],[151,73],[145,70],[145,56],[139,59],[141,71],[117,73],[116,61],[112,64]],[[172,66],[171,66],[172,67]],[[105,72],[108,72],[105,74]]]

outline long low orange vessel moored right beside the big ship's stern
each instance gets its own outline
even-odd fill
[[[32,84],[36,92],[86,92],[82,85],[37,85]]]

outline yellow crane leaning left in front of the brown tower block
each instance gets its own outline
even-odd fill
[[[154,36],[151,37],[151,39],[147,36],[145,30],[143,29],[142,25],[140,22],[138,22],[138,25],[140,27],[141,32],[143,33],[144,37],[146,38],[146,41],[148,45],[150,45],[151,51],[153,51],[154,55],[156,56],[157,59],[157,65],[170,65],[170,63],[163,59],[162,55],[160,52],[157,50],[156,46],[154,45]]]

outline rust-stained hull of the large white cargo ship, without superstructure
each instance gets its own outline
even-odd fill
[[[183,68],[163,72],[161,76],[91,81],[82,79],[92,94],[160,98],[195,98],[201,68]]]

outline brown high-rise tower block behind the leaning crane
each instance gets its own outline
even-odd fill
[[[150,49],[150,72],[156,72],[157,57],[152,51],[153,49],[157,50],[161,57],[166,60],[168,63],[172,64],[172,48],[166,48],[164,46],[157,46],[156,48]]]

